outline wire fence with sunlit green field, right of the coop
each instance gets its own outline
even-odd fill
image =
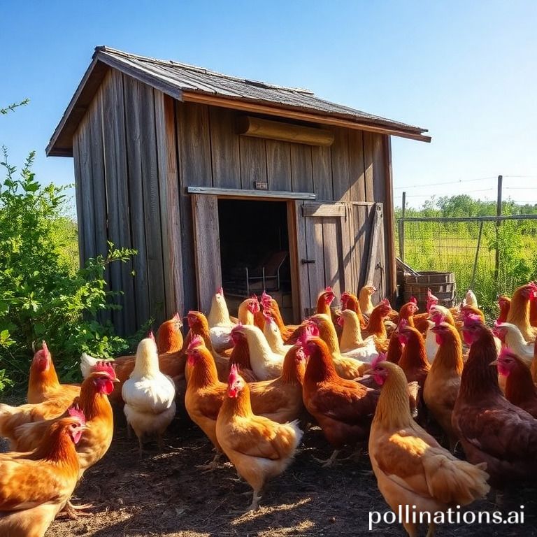
[[[398,257],[415,271],[453,272],[457,301],[471,288],[487,317],[498,294],[537,278],[537,215],[404,217],[397,220]]]

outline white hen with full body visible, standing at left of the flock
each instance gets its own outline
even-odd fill
[[[156,435],[162,450],[162,435],[176,415],[176,387],[159,370],[155,338],[138,343],[136,363],[129,380],[124,382],[122,397],[127,423],[138,437],[140,457],[144,436]]]

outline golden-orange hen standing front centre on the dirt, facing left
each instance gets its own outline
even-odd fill
[[[231,369],[216,420],[216,438],[238,475],[253,489],[250,510],[259,508],[259,492],[266,481],[289,466],[302,434],[296,421],[280,424],[255,415],[248,383],[236,368]]]

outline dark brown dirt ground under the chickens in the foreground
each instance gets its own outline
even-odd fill
[[[136,439],[127,438],[124,423],[117,420],[106,457],[87,471],[75,493],[74,503],[93,503],[92,517],[58,519],[46,537],[406,536],[397,524],[380,523],[368,531],[368,513],[387,510],[369,459],[365,454],[321,468],[313,457],[327,458],[331,448],[318,428],[306,433],[294,464],[268,483],[256,513],[233,513],[244,513],[252,498],[250,487],[234,480],[231,463],[213,473],[196,468],[210,461],[213,452],[185,417],[172,424],[162,454],[156,445],[147,447],[140,461]],[[500,510],[507,513],[520,505],[523,525],[445,524],[437,535],[537,537],[537,488],[507,491]],[[471,510],[493,511],[496,506],[483,500]]]

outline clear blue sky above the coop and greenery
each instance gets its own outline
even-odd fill
[[[73,182],[45,157],[96,45],[307,87],[429,129],[394,138],[396,204],[468,192],[537,203],[535,1],[9,1],[0,3],[0,145],[41,182]],[[449,183],[449,184],[438,184]]]

